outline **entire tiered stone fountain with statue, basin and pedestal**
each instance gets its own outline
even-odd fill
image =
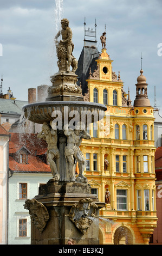
[[[53,178],[39,188],[38,195],[25,201],[31,217],[32,245],[99,244],[99,209],[105,203],[91,193],[83,175],[86,159],[79,146],[90,139],[87,125],[103,118],[106,106],[84,102],[77,86],[77,60],[73,56],[72,29],[67,19],[55,36],[59,71],[51,77],[45,102],[23,107],[25,117],[42,124],[38,133],[48,144],[47,161]],[[62,40],[57,41],[59,36]],[[72,67],[72,71],[70,68]],[[79,174],[75,173],[76,164]]]

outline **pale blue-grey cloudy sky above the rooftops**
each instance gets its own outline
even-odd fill
[[[28,101],[28,88],[51,86],[57,71],[54,37],[60,20],[73,31],[73,55],[79,59],[86,29],[95,29],[98,50],[105,31],[107,53],[124,90],[135,99],[135,83],[142,70],[151,105],[162,109],[161,0],[0,0],[0,76],[3,94],[10,89],[17,100]],[[60,8],[58,7],[60,6]],[[155,90],[154,90],[155,89]],[[155,91],[155,94],[154,94]]]

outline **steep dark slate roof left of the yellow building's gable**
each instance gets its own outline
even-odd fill
[[[84,95],[87,92],[87,82],[86,80],[89,77],[89,68],[91,71],[96,69],[96,59],[99,58],[98,48],[94,46],[84,46],[80,54],[76,75],[78,76],[77,85],[82,85],[82,94]]]

